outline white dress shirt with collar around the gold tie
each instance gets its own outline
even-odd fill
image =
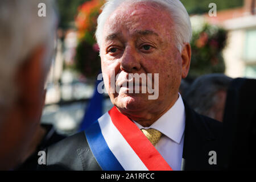
[[[185,130],[185,107],[180,94],[171,109],[150,127],[143,127],[139,123],[133,122],[139,129],[151,128],[162,133],[162,137],[156,143],[155,148],[174,171],[180,171]]]

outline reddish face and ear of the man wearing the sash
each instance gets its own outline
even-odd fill
[[[142,126],[152,125],[175,104],[181,78],[188,74],[191,48],[185,43],[179,52],[173,28],[170,13],[152,2],[125,3],[104,25],[100,45],[104,84],[118,110]],[[159,73],[158,99],[148,100],[148,93],[129,94],[128,88],[110,93],[112,72],[119,73],[116,84],[127,81],[129,73]]]

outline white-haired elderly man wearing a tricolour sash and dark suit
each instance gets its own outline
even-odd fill
[[[178,92],[191,59],[191,23],[181,2],[107,1],[98,18],[96,38],[104,84],[114,107],[85,132],[47,148],[44,167],[217,169],[221,123],[189,109]],[[157,97],[150,97],[150,89],[133,92],[146,85],[133,83],[131,75],[136,73],[148,76],[147,86],[154,85]]]

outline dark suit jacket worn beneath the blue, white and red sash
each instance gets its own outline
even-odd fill
[[[185,103],[184,103],[185,104]],[[197,114],[185,104],[185,135],[183,158],[185,170],[219,169],[218,152],[222,123]],[[209,152],[217,154],[217,164],[209,164]],[[40,170],[101,170],[83,132],[61,140],[46,149],[47,164]]]

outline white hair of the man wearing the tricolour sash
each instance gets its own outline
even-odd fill
[[[155,2],[162,5],[170,11],[171,18],[174,20],[174,35],[179,51],[183,48],[184,43],[189,43],[191,41],[192,28],[189,15],[179,0],[107,0],[105,5],[102,6],[102,13],[98,16],[97,20],[96,40],[99,46],[101,46],[106,20],[123,2]]]

